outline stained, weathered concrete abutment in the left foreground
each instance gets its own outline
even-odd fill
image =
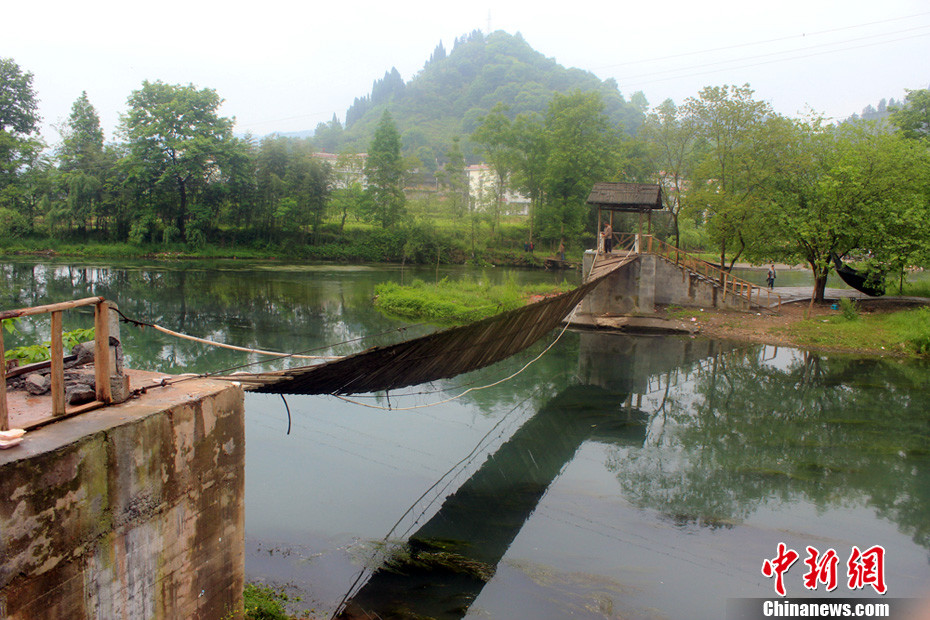
[[[189,381],[0,453],[0,618],[239,618],[241,389]]]

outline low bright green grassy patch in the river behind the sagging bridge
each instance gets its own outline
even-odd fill
[[[415,280],[409,286],[388,282],[377,287],[375,306],[386,314],[405,319],[461,325],[519,308],[533,295],[568,290],[571,286],[566,282],[558,287],[550,284],[517,286],[512,280],[503,285],[491,285],[447,278],[436,284]]]

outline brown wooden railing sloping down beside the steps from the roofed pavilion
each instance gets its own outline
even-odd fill
[[[730,294],[742,297],[750,305],[756,304],[765,307],[771,307],[774,304],[781,305],[781,295],[778,293],[738,278],[730,272],[711,265],[707,261],[652,235],[640,235],[639,247],[636,246],[637,235],[635,233],[614,233],[613,237],[614,247],[618,250],[655,254],[691,273],[715,282],[722,289],[724,299]],[[765,299],[764,302],[763,298]]]

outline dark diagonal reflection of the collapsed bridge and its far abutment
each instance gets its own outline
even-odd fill
[[[649,414],[631,406],[629,396],[718,348],[689,338],[581,334],[580,383],[547,402],[489,456],[340,617],[463,617],[581,445],[641,445]]]

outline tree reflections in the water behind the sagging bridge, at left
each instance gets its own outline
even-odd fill
[[[215,263],[120,268],[5,264],[2,269],[4,307],[102,295],[128,316],[247,347],[299,351],[398,326],[370,311],[370,273],[334,277],[288,268],[226,269]],[[352,343],[334,353],[385,344],[392,336]],[[165,372],[219,370],[257,359],[127,326],[123,340],[129,364]]]

